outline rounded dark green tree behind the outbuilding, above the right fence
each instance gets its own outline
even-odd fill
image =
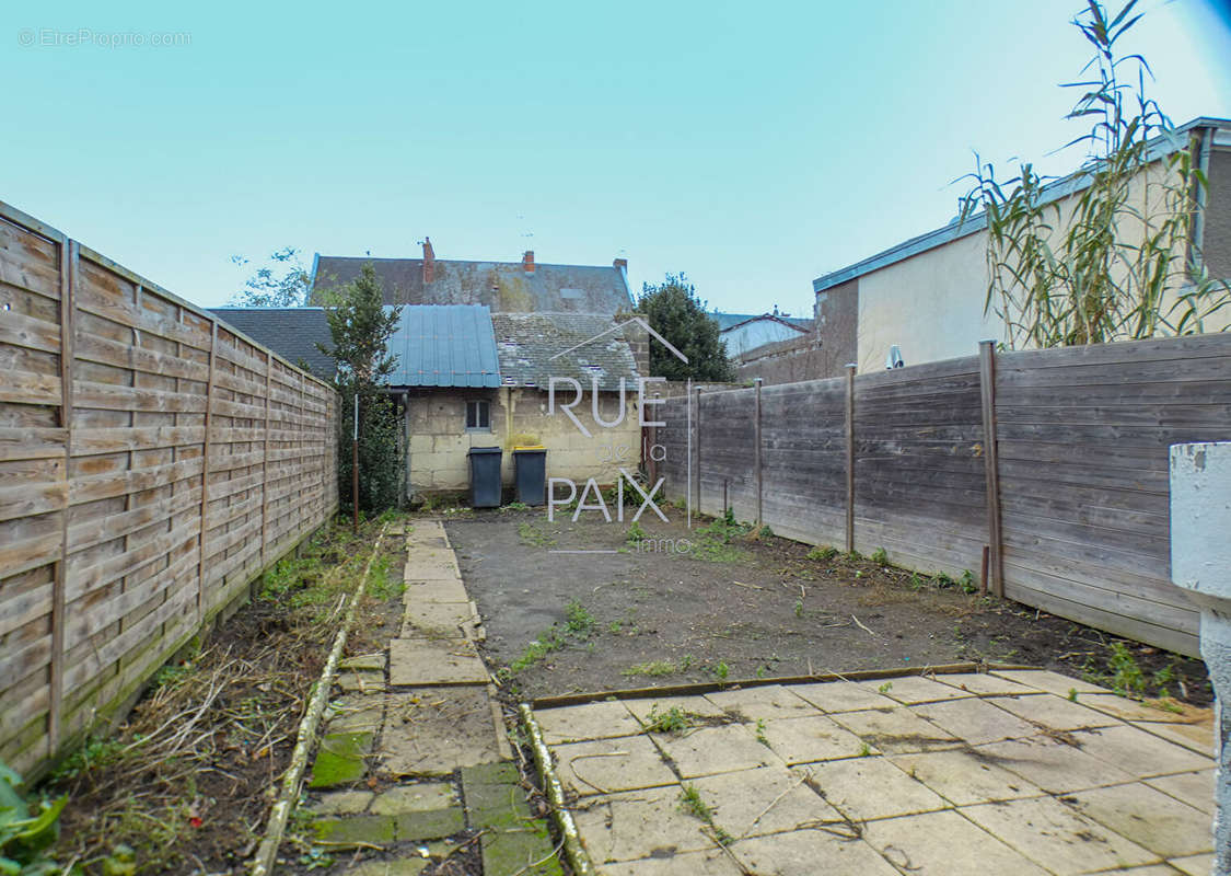
[[[731,381],[735,370],[726,357],[726,343],[718,323],[705,313],[707,302],[681,274],[668,274],[659,285],[644,283],[638,309],[650,326],[688,357],[681,362],[661,344],[650,343],[650,373],[670,381]]]

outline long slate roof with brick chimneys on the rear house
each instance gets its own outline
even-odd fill
[[[385,304],[484,304],[492,313],[601,313],[632,310],[623,271],[614,266],[538,264],[527,274],[519,261],[436,259],[423,283],[422,259],[368,259],[318,255],[309,301],[347,283],[371,262],[384,287]]]

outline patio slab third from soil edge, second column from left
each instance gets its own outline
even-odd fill
[[[742,839],[795,830],[816,822],[841,823],[841,813],[808,786],[806,777],[803,770],[762,766],[689,784],[714,811],[714,823]]]

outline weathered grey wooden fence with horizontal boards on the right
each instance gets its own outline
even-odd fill
[[[703,513],[725,497],[779,535],[952,577],[977,577],[986,546],[996,593],[1198,653],[1198,612],[1171,584],[1167,448],[1231,440],[1231,334],[985,344],[662,412],[666,492]]]

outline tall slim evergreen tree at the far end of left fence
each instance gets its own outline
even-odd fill
[[[351,440],[353,405],[359,399],[359,508],[377,514],[401,497],[405,458],[399,450],[398,408],[387,392],[396,360],[389,339],[401,308],[382,307],[380,278],[371,264],[352,282],[325,298],[331,345],[320,351],[337,362],[334,384],[342,397],[339,416],[337,488],[343,505],[351,501]]]

